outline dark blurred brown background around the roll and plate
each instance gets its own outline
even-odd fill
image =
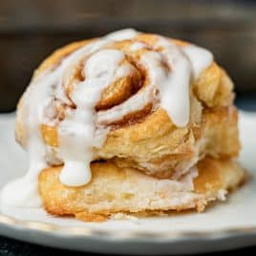
[[[0,0],[0,113],[15,109],[32,71],[54,49],[127,27],[208,48],[233,78],[239,107],[256,110],[256,1]],[[233,253],[256,248],[214,255]],[[82,255],[0,237],[0,255],[57,254]]]

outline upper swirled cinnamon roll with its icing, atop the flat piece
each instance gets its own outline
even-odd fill
[[[63,165],[63,185],[90,183],[97,160],[180,181],[205,157],[238,155],[232,90],[203,48],[114,32],[40,65],[18,104],[16,139],[29,151],[29,173]]]

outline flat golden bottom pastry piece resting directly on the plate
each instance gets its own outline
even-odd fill
[[[246,178],[234,160],[205,158],[197,168],[192,192],[172,191],[166,180],[158,180],[112,162],[92,164],[93,180],[81,187],[67,187],[58,180],[61,167],[51,167],[39,176],[39,191],[46,210],[54,215],[75,215],[83,221],[104,221],[119,212],[155,215],[162,211],[198,209],[223,200],[225,190],[234,189]]]

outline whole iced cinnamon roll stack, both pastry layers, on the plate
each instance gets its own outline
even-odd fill
[[[187,42],[125,30],[63,47],[17,107],[31,168],[14,201],[84,221],[202,211],[245,181],[233,97],[212,53]]]

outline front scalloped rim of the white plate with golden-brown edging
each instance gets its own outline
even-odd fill
[[[45,235],[69,235],[73,237],[97,237],[103,240],[149,240],[151,242],[164,242],[164,241],[177,241],[186,239],[200,239],[200,240],[216,240],[226,239],[231,237],[251,235],[256,236],[256,225],[249,225],[243,227],[227,227],[216,228],[211,230],[165,230],[161,232],[152,232],[149,230],[118,230],[118,236],[116,232],[111,230],[103,230],[97,227],[85,227],[85,226],[64,226],[61,224],[48,224],[37,221],[25,221],[17,218],[0,214],[0,224],[9,228],[19,228],[30,231],[38,231]],[[156,236],[157,235],[157,236]],[[256,243],[255,243],[256,245]]]

